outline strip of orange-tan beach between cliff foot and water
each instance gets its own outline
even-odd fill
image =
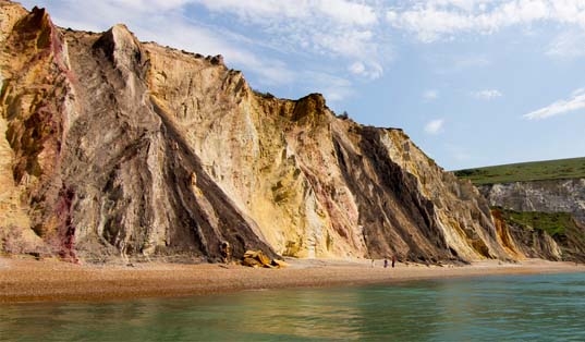
[[[0,256],[0,303],[51,301],[115,301],[188,296],[244,290],[353,286],[452,277],[584,272],[584,265],[528,259],[495,260],[470,266],[424,266],[382,260],[288,259],[283,269],[236,265],[145,262],[132,266],[73,265],[54,259]]]

